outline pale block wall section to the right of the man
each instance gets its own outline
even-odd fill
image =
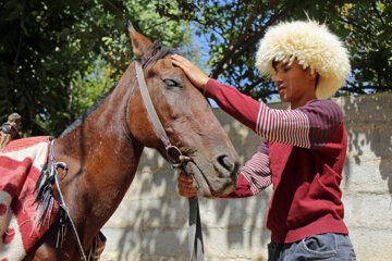
[[[345,222],[357,260],[392,260],[392,95],[338,99],[348,149],[343,172]]]

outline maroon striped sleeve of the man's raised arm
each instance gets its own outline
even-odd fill
[[[205,95],[258,135],[302,148],[323,148],[343,121],[342,109],[330,100],[311,100],[295,110],[274,110],[215,79],[208,80]]]

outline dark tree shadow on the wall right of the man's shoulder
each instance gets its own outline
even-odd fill
[[[363,165],[363,161],[380,160],[381,178],[387,181],[392,195],[392,94],[339,98],[344,110],[348,136],[348,160]],[[373,152],[376,158],[370,156]],[[350,179],[352,170],[346,162],[344,173]]]

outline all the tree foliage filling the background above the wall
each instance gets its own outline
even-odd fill
[[[24,135],[60,134],[106,92],[134,54],[127,21],[177,48],[210,76],[255,99],[274,99],[255,70],[258,41],[279,21],[326,22],[344,39],[353,73],[338,95],[392,89],[388,0],[4,0],[0,2],[0,122],[22,115]],[[203,61],[200,45],[208,45]]]

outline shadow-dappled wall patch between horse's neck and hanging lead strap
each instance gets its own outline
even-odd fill
[[[187,254],[187,237],[179,236],[187,226],[187,201],[176,194],[176,177],[169,164],[162,163],[157,151],[149,154],[154,158],[144,153],[137,177],[120,206],[124,209],[117,216],[122,228],[117,260]]]

